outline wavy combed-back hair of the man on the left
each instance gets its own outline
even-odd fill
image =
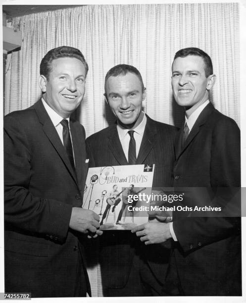
[[[63,58],[63,57],[76,58],[76,59],[80,60],[85,66],[86,75],[87,75],[89,67],[88,67],[86,59],[83,56],[82,52],[78,49],[68,47],[68,46],[61,46],[61,47],[49,50],[40,63],[40,74],[44,75],[49,80],[49,73],[51,71],[52,61],[55,59],[58,59],[58,58]]]

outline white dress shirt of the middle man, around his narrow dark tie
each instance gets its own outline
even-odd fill
[[[133,129],[134,130],[133,136],[136,141],[136,156],[137,157],[138,157],[141,142],[142,142],[142,139],[144,136],[146,123],[147,123],[147,118],[144,113],[144,118],[141,121],[141,123],[136,128]],[[121,125],[117,124],[117,131],[118,131],[118,135],[120,138],[120,143],[121,143],[121,146],[122,146],[122,149],[124,151],[127,161],[128,161],[129,142],[130,142],[130,136],[128,134],[129,130],[131,130],[131,129],[124,128]]]

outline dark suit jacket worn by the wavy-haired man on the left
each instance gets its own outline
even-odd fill
[[[4,117],[5,291],[32,297],[86,296],[83,248],[69,229],[87,173],[85,131],[70,122],[75,175],[38,101]]]

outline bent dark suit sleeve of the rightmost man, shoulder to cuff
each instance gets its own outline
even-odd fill
[[[229,118],[218,121],[212,132],[211,189],[207,190],[214,191],[211,206],[221,206],[221,216],[177,218],[173,230],[184,252],[240,235],[240,162],[240,130],[236,122]]]

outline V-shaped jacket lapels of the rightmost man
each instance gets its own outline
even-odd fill
[[[198,132],[200,131],[200,127],[206,122],[206,120],[212,110],[214,110],[214,107],[213,107],[212,103],[209,102],[207,104],[207,106],[205,106],[205,108],[199,114],[197,121],[195,122],[189,136],[187,137],[183,148],[182,148],[183,127],[180,129],[179,135],[176,137],[176,140],[175,140],[176,160],[180,157],[180,155],[187,149],[187,147],[191,144],[191,142],[197,136]]]

